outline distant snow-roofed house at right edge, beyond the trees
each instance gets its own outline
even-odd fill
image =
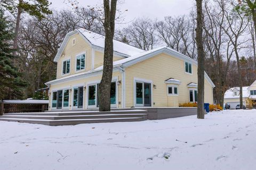
[[[239,87],[230,88],[225,92],[224,103],[230,105],[230,108],[236,108],[236,105],[240,104],[240,92]],[[246,99],[252,99],[256,101],[256,81],[251,86],[243,87],[243,105],[246,106]]]

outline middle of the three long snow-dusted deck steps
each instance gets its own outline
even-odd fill
[[[98,114],[98,115],[68,115],[68,116],[56,116],[56,115],[3,115],[0,118],[25,118],[25,119],[40,119],[40,120],[76,120],[76,119],[94,119],[94,118],[125,118],[125,117],[141,117],[147,118],[147,114]]]

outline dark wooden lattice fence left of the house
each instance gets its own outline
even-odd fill
[[[44,112],[48,109],[46,103],[33,103],[33,102],[9,102],[7,100],[0,101],[0,115],[4,113],[26,113],[26,112]]]

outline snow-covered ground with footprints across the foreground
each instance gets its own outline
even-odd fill
[[[45,126],[0,122],[0,169],[255,169],[256,110]]]

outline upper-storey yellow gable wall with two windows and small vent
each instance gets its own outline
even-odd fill
[[[76,38],[76,45],[73,46],[73,38]],[[83,37],[81,37],[78,33],[70,36],[68,43],[61,54],[58,64],[57,64],[57,79],[65,77],[67,75],[72,75],[76,73],[76,55],[82,54],[85,52],[85,69],[80,72],[87,72],[92,70],[92,48],[89,43],[86,43]],[[62,56],[63,55],[63,56]],[[62,62],[64,60],[70,60],[70,73],[66,75],[62,75]]]

